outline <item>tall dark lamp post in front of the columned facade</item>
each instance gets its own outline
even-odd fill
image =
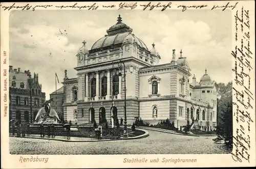
[[[126,74],[125,74],[125,65],[120,60],[118,63],[118,67],[120,70],[123,69],[123,77],[124,77],[124,124],[123,124],[123,137],[128,137],[127,133],[127,118],[126,118]],[[119,78],[122,77],[122,73],[118,73]]]

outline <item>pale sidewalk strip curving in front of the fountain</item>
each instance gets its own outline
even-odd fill
[[[9,136],[13,137],[13,135],[9,134]],[[16,135],[14,137],[17,137]],[[97,138],[86,138],[86,137],[70,137],[68,139],[67,136],[52,136],[45,135],[45,137],[40,137],[39,134],[30,134],[29,136],[26,134],[25,137],[20,138],[36,138],[36,139],[49,139],[49,140],[58,140],[62,142],[104,142],[104,141],[112,141],[118,139],[97,139]]]

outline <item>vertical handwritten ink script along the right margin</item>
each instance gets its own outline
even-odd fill
[[[235,74],[233,84],[233,95],[236,99],[233,105],[236,106],[233,116],[236,118],[234,123],[238,124],[236,132],[233,133],[233,152],[232,158],[234,161],[242,162],[246,160],[250,162],[250,126],[253,121],[250,117],[250,110],[253,110],[252,103],[254,103],[253,93],[250,91],[250,72],[253,70],[251,63],[252,51],[250,50],[250,17],[249,11],[243,7],[237,10],[234,15],[236,31],[234,39],[236,46],[231,52],[235,59],[234,67],[232,69]]]

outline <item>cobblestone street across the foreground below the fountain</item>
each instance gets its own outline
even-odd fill
[[[150,136],[110,142],[60,142],[57,140],[10,138],[11,154],[225,154],[215,136],[184,136],[148,130]]]

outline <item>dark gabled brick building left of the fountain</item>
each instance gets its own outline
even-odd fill
[[[31,76],[29,70],[9,66],[9,118],[33,122],[46,94],[38,81],[38,74]]]

